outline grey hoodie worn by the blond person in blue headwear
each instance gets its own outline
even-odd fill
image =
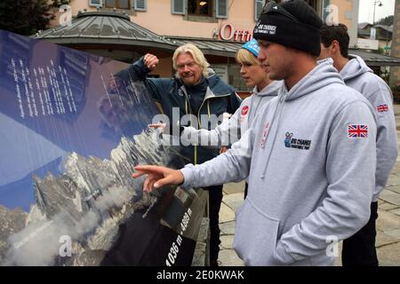
[[[230,146],[240,139],[241,135],[249,128],[255,114],[270,99],[277,96],[278,90],[282,86],[282,81],[273,81],[263,90],[258,91],[254,87],[252,96],[242,101],[235,114],[213,130],[197,130],[194,127],[185,127],[180,138],[184,145],[202,146]],[[207,145],[201,144],[202,141],[208,142]],[[210,144],[209,144],[210,143]]]

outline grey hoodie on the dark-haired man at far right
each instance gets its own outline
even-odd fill
[[[372,201],[378,201],[398,154],[393,95],[388,84],[380,76],[374,75],[363,59],[356,55],[350,55],[349,58],[340,75],[349,87],[359,91],[365,99],[368,99],[377,116],[376,185]]]

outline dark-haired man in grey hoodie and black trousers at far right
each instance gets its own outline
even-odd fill
[[[377,117],[377,167],[370,220],[355,235],[343,241],[341,261],[344,266],[378,266],[375,248],[378,198],[388,181],[398,152],[393,95],[388,84],[380,76],[374,75],[363,59],[348,55],[349,40],[345,25],[324,24],[321,28],[320,59],[332,58],[333,66],[340,72],[344,83],[362,93],[371,103]]]

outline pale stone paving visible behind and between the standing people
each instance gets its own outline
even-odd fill
[[[395,106],[397,138],[400,141],[400,105]],[[399,142],[400,144],[400,142]],[[224,185],[220,209],[220,262],[222,266],[243,265],[232,249],[235,233],[235,211],[242,204],[244,182]],[[376,247],[380,265],[400,265],[400,157],[380,194]],[[340,245],[341,249],[341,245]],[[340,253],[339,253],[340,255]],[[336,265],[341,265],[340,256]]]

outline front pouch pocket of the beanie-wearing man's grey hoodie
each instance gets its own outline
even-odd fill
[[[233,247],[246,265],[276,265],[279,220],[261,212],[247,197],[237,210]]]

